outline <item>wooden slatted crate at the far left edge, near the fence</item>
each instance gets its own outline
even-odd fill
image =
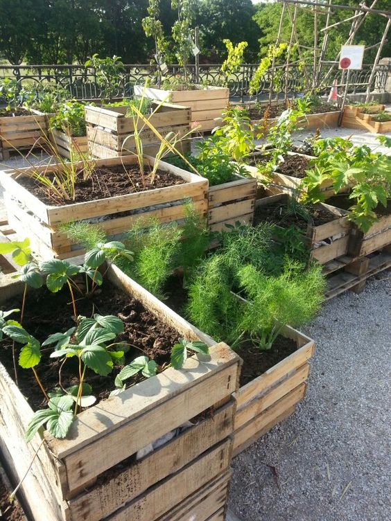
[[[29,150],[44,143],[48,132],[48,117],[30,109],[31,116],[0,117],[0,159],[10,158],[10,152]]]

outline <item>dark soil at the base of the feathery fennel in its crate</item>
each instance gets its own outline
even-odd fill
[[[270,351],[260,351],[254,347],[250,341],[248,346],[236,350],[236,353],[243,360],[241,370],[240,385],[243,386],[257,376],[260,376],[270,367],[273,367],[287,356],[295,353],[297,350],[296,342],[290,338],[281,337],[279,335],[275,340]]]

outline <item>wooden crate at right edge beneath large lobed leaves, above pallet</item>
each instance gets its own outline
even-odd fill
[[[348,253],[363,257],[391,244],[391,215],[384,215],[364,233],[356,226],[351,227]]]

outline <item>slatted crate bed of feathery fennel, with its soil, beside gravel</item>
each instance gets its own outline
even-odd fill
[[[168,306],[182,313],[187,294],[180,279],[172,277],[168,288]],[[243,358],[243,366],[240,387],[234,395],[234,455],[295,412],[305,396],[308,360],[314,351],[313,340],[290,326],[284,328],[270,351],[251,349],[250,344],[249,340],[236,351]]]

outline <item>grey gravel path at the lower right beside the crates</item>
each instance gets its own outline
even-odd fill
[[[233,462],[241,521],[390,520],[391,274],[377,277],[304,328],[315,339],[306,399]]]

